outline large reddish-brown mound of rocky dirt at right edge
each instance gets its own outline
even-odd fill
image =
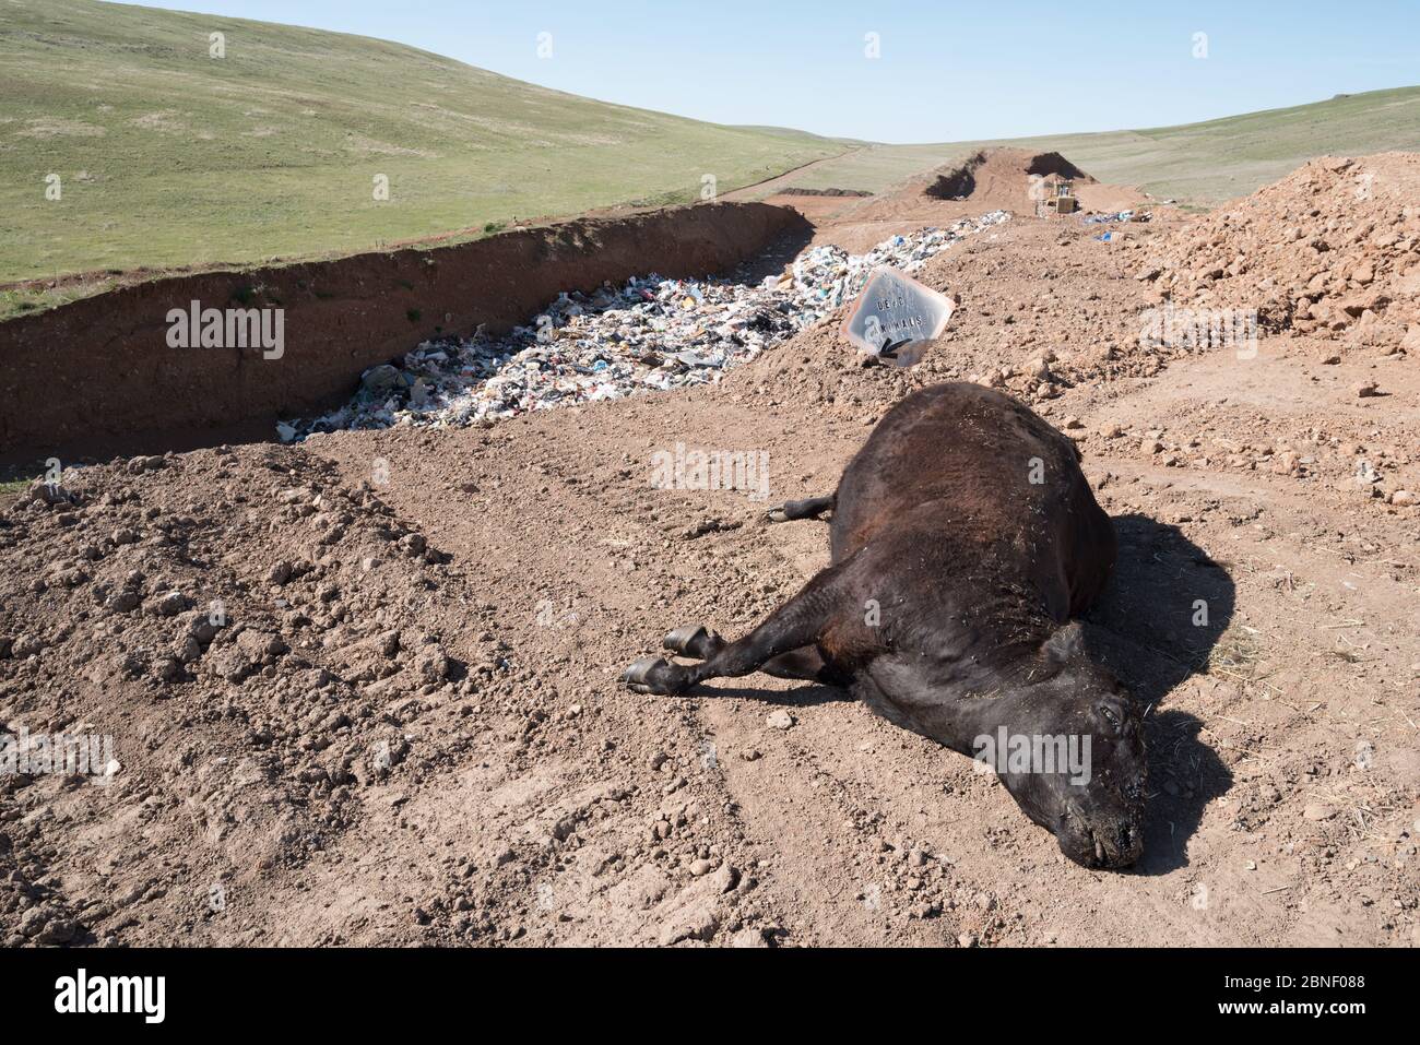
[[[1322,158],[1172,236],[1140,278],[1268,331],[1420,352],[1420,156]]]

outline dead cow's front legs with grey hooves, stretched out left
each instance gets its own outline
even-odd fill
[[[699,664],[676,664],[665,657],[642,657],[622,674],[622,682],[636,693],[657,693],[669,696],[684,693],[706,679],[737,679],[751,672],[763,670],[771,660],[785,653],[798,653],[804,646],[814,646],[818,636],[829,625],[835,612],[843,605],[845,575],[856,557],[821,571],[792,599],[765,618],[743,639],[724,643],[719,636],[692,635],[679,639],[683,649],[696,649],[710,656]],[[680,636],[687,629],[679,629],[666,636]],[[717,642],[719,640],[719,642]],[[809,664],[805,657],[778,662],[775,667],[802,672]],[[804,677],[792,674],[790,677]],[[812,677],[816,677],[812,676]]]

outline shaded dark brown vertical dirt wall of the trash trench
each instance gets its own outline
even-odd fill
[[[0,325],[0,460],[270,434],[277,417],[331,406],[361,371],[426,338],[507,329],[562,291],[648,271],[728,271],[808,233],[785,207],[714,203],[124,287]],[[169,312],[192,302],[280,310],[278,358],[274,338],[266,351],[173,348]],[[264,315],[274,335],[275,312]]]

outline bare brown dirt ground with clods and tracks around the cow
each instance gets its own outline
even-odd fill
[[[719,381],[10,498],[0,943],[1420,941],[1414,169],[1326,160],[1109,241],[1018,212],[923,258],[957,310],[910,369],[865,366],[831,304]],[[839,202],[819,244],[971,206]],[[1200,345],[1150,334],[1170,305],[1291,318]],[[551,307],[554,346],[596,315]],[[1133,873],[1068,863],[968,760],[828,687],[619,683],[669,629],[738,636],[792,595],[825,531],[765,507],[967,379],[1075,439],[1115,518],[1086,635],[1147,708]],[[763,454],[768,500],[657,483],[683,449]],[[57,771],[64,738],[101,765]]]

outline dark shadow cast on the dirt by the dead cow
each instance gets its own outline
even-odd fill
[[[1203,723],[1160,704],[1206,672],[1233,620],[1234,585],[1223,564],[1177,527],[1147,515],[1115,517],[1119,558],[1085,616],[1086,645],[1146,713],[1149,806],[1145,856],[1135,870],[1163,875],[1189,863],[1187,841],[1233,774],[1200,738]]]

